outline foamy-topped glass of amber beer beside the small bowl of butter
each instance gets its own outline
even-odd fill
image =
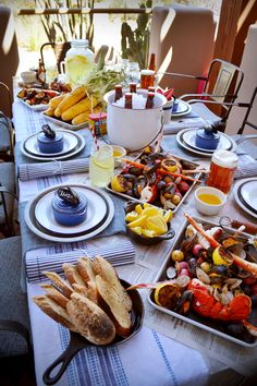
[[[217,150],[210,162],[208,186],[213,186],[228,194],[233,183],[234,171],[237,166],[237,156],[233,152]]]

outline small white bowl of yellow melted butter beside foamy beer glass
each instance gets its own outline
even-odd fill
[[[200,186],[195,191],[196,208],[204,215],[217,215],[227,202],[227,195],[212,186]]]

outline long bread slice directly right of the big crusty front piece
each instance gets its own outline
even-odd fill
[[[114,323],[117,334],[122,337],[127,337],[131,333],[132,321],[131,314],[123,302],[123,298],[113,290],[109,281],[105,280],[99,275],[96,276],[96,286],[98,293],[108,305],[108,309],[106,309],[105,304],[102,305],[100,301],[99,304],[102,305],[102,309]]]

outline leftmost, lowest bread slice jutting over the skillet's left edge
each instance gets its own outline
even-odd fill
[[[53,321],[60,323],[73,331],[76,331],[76,328],[71,322],[66,310],[58,304],[54,300],[52,300],[48,294],[34,297],[33,301],[41,309],[42,312],[45,312],[45,314],[50,316]]]

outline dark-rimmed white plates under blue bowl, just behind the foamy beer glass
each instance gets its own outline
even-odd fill
[[[203,147],[198,147],[195,144],[196,133],[199,129],[184,129],[176,134],[178,143],[188,152],[205,156],[211,157],[216,150],[231,150],[236,149],[236,143],[229,135],[219,132],[220,142],[215,150],[208,150]]]

